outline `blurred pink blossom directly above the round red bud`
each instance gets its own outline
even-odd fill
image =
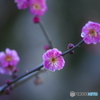
[[[30,12],[36,16],[42,16],[47,11],[46,0],[30,0]]]

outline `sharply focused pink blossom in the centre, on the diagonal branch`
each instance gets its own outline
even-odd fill
[[[49,69],[50,71],[61,70],[65,65],[65,60],[62,56],[60,56],[61,54],[62,52],[56,48],[49,49],[46,53],[44,53],[44,68]]]

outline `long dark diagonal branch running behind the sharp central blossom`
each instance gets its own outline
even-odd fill
[[[81,40],[79,43],[77,43],[73,48],[71,48],[71,49],[66,50],[65,52],[63,52],[61,56],[65,56],[66,54],[68,54],[69,52],[71,52],[72,50],[74,50],[75,48],[79,47],[82,43],[83,43],[83,40]],[[39,66],[33,68],[31,71],[29,71],[29,72],[27,72],[27,73],[25,73],[25,74],[19,76],[18,78],[12,80],[11,83],[9,83],[9,84],[4,84],[3,86],[0,87],[0,95],[2,95],[2,94],[3,94],[3,91],[4,91],[5,89],[7,89],[10,85],[16,84],[18,81],[23,81],[24,78],[28,78],[28,77],[26,77],[26,76],[28,76],[28,75],[31,76],[31,74],[32,74],[32,73],[36,73],[36,71],[37,71],[37,72],[41,71],[41,68],[42,68],[42,67],[43,67],[43,64],[40,64]]]

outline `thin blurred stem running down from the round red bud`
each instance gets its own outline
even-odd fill
[[[39,22],[39,25],[40,25],[40,27],[41,27],[41,29],[42,29],[42,31],[43,31],[43,34],[44,34],[45,38],[46,38],[47,41],[48,41],[50,47],[53,48],[54,45],[53,45],[53,43],[52,43],[52,41],[51,41],[51,38],[50,38],[49,35],[48,35],[48,32],[46,31],[46,29],[45,29],[45,27],[44,27],[42,21]]]

